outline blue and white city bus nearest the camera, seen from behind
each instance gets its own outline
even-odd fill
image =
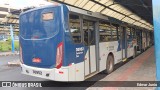
[[[114,65],[135,57],[135,28],[110,17],[56,4],[20,15],[22,73],[54,81],[84,81],[111,73]]]

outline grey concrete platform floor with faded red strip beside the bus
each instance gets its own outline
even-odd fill
[[[122,64],[100,81],[156,81],[154,47]],[[87,90],[155,90],[155,87],[90,87]]]

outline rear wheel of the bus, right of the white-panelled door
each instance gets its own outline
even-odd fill
[[[114,58],[113,55],[109,54],[106,62],[106,70],[104,71],[106,74],[110,74],[114,69]]]

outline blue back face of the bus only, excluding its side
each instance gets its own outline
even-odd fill
[[[49,68],[55,65],[56,50],[64,41],[61,7],[49,7],[25,12],[20,15],[20,44],[23,62],[29,66]],[[43,20],[42,14],[53,13],[54,18]],[[33,63],[40,58],[41,63]]]

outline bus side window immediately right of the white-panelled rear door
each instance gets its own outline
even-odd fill
[[[99,22],[99,41],[108,42],[111,41],[110,24],[105,21]]]

